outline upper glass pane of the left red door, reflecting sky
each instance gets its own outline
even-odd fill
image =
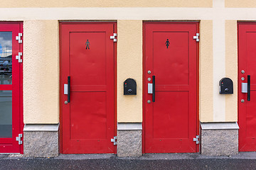
[[[0,84],[12,82],[12,33],[0,32]]]

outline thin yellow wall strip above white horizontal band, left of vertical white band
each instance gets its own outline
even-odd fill
[[[212,7],[213,0],[1,0],[1,8],[23,7]]]

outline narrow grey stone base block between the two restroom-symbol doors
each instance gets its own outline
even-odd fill
[[[117,156],[142,156],[142,130],[117,130]]]

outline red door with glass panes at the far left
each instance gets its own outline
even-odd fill
[[[22,32],[22,23],[0,23],[0,153],[23,154],[16,141],[23,134],[22,55],[17,59],[23,47],[16,40]]]

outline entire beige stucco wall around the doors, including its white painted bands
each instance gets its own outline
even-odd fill
[[[95,8],[103,6],[114,8]],[[256,7],[255,1],[65,0],[60,3],[60,0],[48,0],[35,3],[4,0],[0,7],[1,21],[24,21],[25,123],[58,123],[57,20],[117,21],[118,122],[142,122],[142,21],[201,21],[199,119],[202,122],[237,120],[236,21],[255,20],[255,8],[225,7]],[[137,81],[137,96],[123,95],[122,83],[129,77]],[[218,94],[218,81],[222,77],[233,79],[233,95]]]

